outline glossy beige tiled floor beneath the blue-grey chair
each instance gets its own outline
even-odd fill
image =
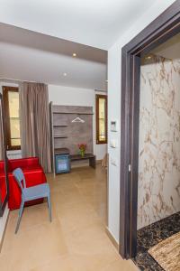
[[[104,232],[105,171],[85,167],[48,176],[53,220],[47,203],[25,208],[17,235],[18,211],[11,211],[1,271],[125,271],[137,270],[122,260]]]

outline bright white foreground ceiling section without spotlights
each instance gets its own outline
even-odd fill
[[[108,50],[157,0],[0,0],[0,22]]]

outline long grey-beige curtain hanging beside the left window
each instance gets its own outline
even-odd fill
[[[44,84],[23,82],[20,89],[23,157],[38,156],[45,173],[51,172],[49,98]]]

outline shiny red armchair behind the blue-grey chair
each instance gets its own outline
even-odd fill
[[[22,192],[14,179],[13,171],[20,167],[23,170],[26,186],[31,187],[40,183],[47,182],[39,159],[37,157],[8,160],[8,179],[9,179],[9,201],[8,207],[10,210],[18,209],[22,201]],[[43,202],[43,199],[29,201],[27,205]]]

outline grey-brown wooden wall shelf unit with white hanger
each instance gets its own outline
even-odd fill
[[[76,117],[85,119],[84,123],[73,123]],[[77,145],[86,143],[88,154],[93,155],[93,107],[58,106],[50,102],[49,120],[51,161],[55,176],[55,154],[58,154],[58,150],[68,149],[69,154],[74,155],[71,161],[81,160],[76,156]],[[94,166],[94,155],[85,158]]]

